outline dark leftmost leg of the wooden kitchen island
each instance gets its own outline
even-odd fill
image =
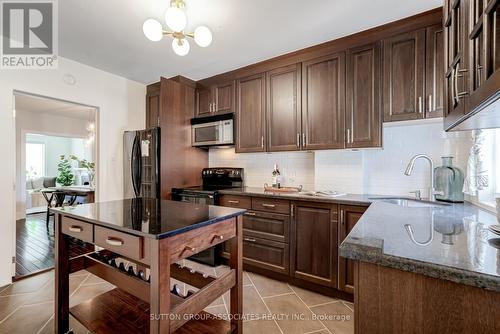
[[[54,215],[55,228],[55,333],[69,331],[69,246],[68,237],[61,233],[61,215]]]

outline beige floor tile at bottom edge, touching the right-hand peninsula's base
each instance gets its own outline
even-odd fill
[[[354,333],[354,312],[341,301],[311,307],[311,310],[332,333]]]

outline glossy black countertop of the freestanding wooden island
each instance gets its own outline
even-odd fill
[[[96,225],[163,239],[242,215],[246,210],[157,199],[125,199],[52,208]]]

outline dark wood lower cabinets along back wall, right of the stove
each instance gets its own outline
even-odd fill
[[[352,298],[353,262],[338,256],[338,246],[366,206],[234,195],[223,195],[220,203],[249,209],[243,216],[247,269],[336,298]],[[275,208],[286,204],[287,210],[280,211],[289,214],[264,211],[270,209],[262,203]],[[223,256],[229,256],[227,246]]]

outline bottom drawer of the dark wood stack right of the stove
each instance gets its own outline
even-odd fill
[[[243,262],[282,274],[290,272],[290,246],[282,242],[243,236]]]

